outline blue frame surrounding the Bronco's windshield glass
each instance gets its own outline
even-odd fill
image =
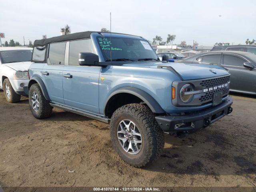
[[[102,52],[102,49],[100,48],[100,45],[98,43],[98,39],[99,37],[101,38],[132,38],[132,39],[135,39],[135,40],[140,40],[140,41],[146,41],[148,42],[148,40],[142,38],[142,37],[139,37],[139,36],[133,36],[133,35],[126,35],[126,34],[116,34],[116,33],[92,33],[91,34],[91,39],[92,39],[92,42],[93,42],[93,45],[96,49],[96,52],[99,56],[99,61],[100,62],[107,62],[106,60],[108,60],[109,58],[107,58],[104,53]],[[151,46],[151,44],[148,42],[150,48],[151,48],[151,51],[152,53],[155,55],[155,58],[153,58],[153,60],[146,60],[147,62],[150,62],[150,61],[155,61],[154,59],[158,60],[158,55],[156,54],[156,52],[154,51],[154,48]],[[116,58],[112,58],[112,59],[116,59]],[[117,58],[118,59],[118,58]],[[142,61],[145,61],[145,60],[138,60],[140,58],[128,58],[130,60],[133,60],[133,61],[130,61],[130,60],[124,60],[124,61],[113,61],[113,62],[142,62]],[[109,61],[108,61],[109,62]]]

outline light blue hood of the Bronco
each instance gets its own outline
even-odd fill
[[[134,66],[134,67],[145,67],[145,68],[156,68],[157,70],[164,70],[157,68],[158,66],[170,66],[172,67],[182,78],[183,80],[195,80],[195,79],[204,79],[217,77],[222,75],[228,75],[229,73],[224,69],[212,65],[193,65],[193,64],[184,64],[184,63],[165,63],[165,62],[140,62],[143,64],[125,64],[125,66]]]

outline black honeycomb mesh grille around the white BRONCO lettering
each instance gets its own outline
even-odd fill
[[[213,79],[208,79],[208,80],[202,80],[200,85],[205,89],[205,88],[211,88],[214,86],[226,84],[229,82],[230,82],[230,76],[225,76],[225,77],[213,78]],[[227,96],[228,92],[229,92],[229,86],[206,92],[206,93],[202,94],[202,96],[199,98],[199,100],[200,100],[200,102],[203,102],[203,103],[210,102],[213,100],[213,95],[218,92],[222,92],[223,97]]]

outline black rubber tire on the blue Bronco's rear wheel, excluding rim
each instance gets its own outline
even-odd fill
[[[38,95],[38,101],[39,101],[38,111],[35,111],[32,106],[32,98],[31,97],[32,97],[33,92],[36,92],[36,94]],[[37,83],[31,85],[31,87],[29,89],[29,94],[28,94],[28,101],[29,101],[30,110],[35,118],[44,119],[44,118],[48,118],[51,116],[53,107],[50,106],[50,102],[44,98],[42,90]]]

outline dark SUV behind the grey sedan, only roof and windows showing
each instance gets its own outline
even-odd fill
[[[214,46],[211,51],[244,51],[256,54],[256,45],[226,45]]]

